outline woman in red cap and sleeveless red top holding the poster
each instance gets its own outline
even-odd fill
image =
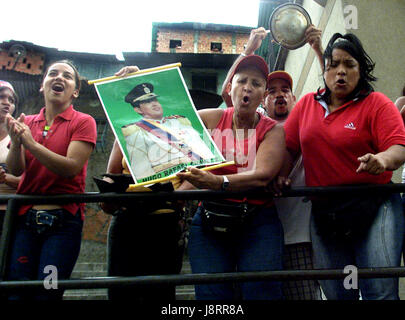
[[[279,172],[284,131],[256,111],[266,95],[268,67],[248,55],[230,70],[227,109],[204,109],[199,115],[226,160],[235,164],[211,172],[190,168],[177,176],[188,188],[243,191],[265,187]],[[191,226],[188,245],[193,273],[282,269],[283,231],[272,200],[245,198],[202,201]],[[275,281],[196,285],[197,299],[281,299]]]

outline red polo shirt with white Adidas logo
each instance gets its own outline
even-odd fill
[[[385,184],[392,172],[356,173],[358,157],[405,145],[405,128],[398,109],[384,94],[341,106],[325,117],[315,94],[305,95],[289,115],[284,130],[287,148],[302,152],[306,185]]]

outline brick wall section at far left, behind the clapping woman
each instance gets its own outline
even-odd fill
[[[0,51],[0,68],[12,70],[15,57],[10,57],[7,51]],[[18,60],[14,70],[32,75],[42,74],[44,67],[44,55],[41,53],[27,52],[24,58]]]

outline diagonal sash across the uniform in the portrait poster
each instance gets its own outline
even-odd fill
[[[190,157],[193,161],[200,161],[200,159],[202,159],[202,157],[200,155],[193,152],[191,150],[191,148],[188,147],[188,145],[186,145],[182,140],[179,140],[178,138],[176,138],[172,133],[167,131],[164,127],[157,126],[156,124],[153,124],[152,122],[149,122],[145,119],[137,121],[137,122],[135,122],[135,124],[138,127],[153,134],[157,138],[165,141],[173,148],[176,148],[177,150],[181,151],[184,155]]]

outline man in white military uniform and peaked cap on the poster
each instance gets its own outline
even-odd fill
[[[122,127],[136,179],[181,163],[214,157],[187,118],[180,115],[163,117],[157,97],[150,83],[135,86],[125,97],[125,102],[143,117]]]

